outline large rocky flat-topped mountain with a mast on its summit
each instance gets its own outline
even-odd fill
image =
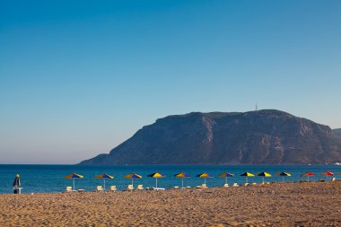
[[[193,112],[145,126],[80,164],[319,164],[341,162],[328,126],[275,109]]]

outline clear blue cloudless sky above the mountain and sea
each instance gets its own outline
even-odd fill
[[[341,1],[1,1],[0,163],[76,163],[156,118],[341,127]]]

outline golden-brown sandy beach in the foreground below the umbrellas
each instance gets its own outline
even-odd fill
[[[341,182],[0,195],[0,226],[341,226]]]

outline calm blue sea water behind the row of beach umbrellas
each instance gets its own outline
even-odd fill
[[[303,179],[300,175],[310,171],[316,174],[310,180],[325,179],[319,176],[323,171],[341,172],[341,166],[337,165],[124,165],[124,166],[78,166],[78,165],[0,165],[0,193],[13,193],[13,179],[17,173],[21,176],[22,193],[42,193],[42,192],[61,192],[65,191],[66,186],[72,186],[72,179],[64,177],[72,172],[82,174],[83,179],[75,179],[75,188],[83,188],[85,191],[92,191],[97,185],[102,185],[101,179],[95,179],[94,176],[103,172],[114,176],[114,179],[107,179],[106,185],[116,185],[118,190],[127,188],[131,183],[130,179],[123,178],[130,172],[136,172],[142,179],[135,179],[134,184],[143,184],[144,188],[154,187],[155,179],[148,178],[147,175],[155,171],[161,172],[167,177],[158,179],[158,187],[172,188],[180,186],[181,179],[174,177],[174,174],[185,171],[192,177],[184,179],[185,186],[195,187],[201,185],[204,179],[196,177],[197,174],[207,172],[214,178],[206,179],[209,188],[223,186],[224,179],[218,178],[218,175],[224,171],[235,175],[228,179],[228,183],[243,183],[244,177],[239,175],[245,171],[257,174],[261,171],[267,171],[273,175],[267,178],[267,181],[281,181],[281,177],[276,177],[275,173],[286,171],[292,174],[292,177],[285,178],[288,181],[298,181]],[[341,176],[337,176],[341,178]],[[261,177],[249,178],[249,182],[260,183]]]

